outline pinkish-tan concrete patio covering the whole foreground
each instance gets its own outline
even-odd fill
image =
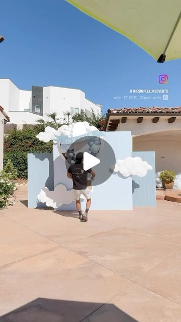
[[[120,196],[121,198],[121,196]],[[74,212],[0,211],[1,322],[180,322],[180,204]]]

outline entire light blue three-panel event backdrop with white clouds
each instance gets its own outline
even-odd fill
[[[113,148],[118,163],[110,165],[113,174],[107,181],[92,187],[91,209],[130,210],[133,206],[155,206],[154,152],[132,152],[131,132],[100,133]],[[75,210],[72,181],[66,176],[67,161],[57,137],[53,140],[53,153],[28,154],[29,208],[50,206],[56,210]],[[103,149],[101,163],[109,157],[105,153]],[[82,199],[83,207],[84,203]]]

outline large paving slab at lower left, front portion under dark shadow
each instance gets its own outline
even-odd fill
[[[0,268],[0,315],[38,298],[93,303],[82,306],[77,316],[76,305],[69,306],[69,320],[66,316],[62,321],[78,322],[131,283],[60,246]]]

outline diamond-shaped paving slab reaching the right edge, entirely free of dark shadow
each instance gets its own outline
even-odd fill
[[[77,254],[93,260],[131,280],[136,280],[172,255],[180,247],[171,241],[113,228],[65,244]]]

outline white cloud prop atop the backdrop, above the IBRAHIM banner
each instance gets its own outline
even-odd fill
[[[40,132],[36,137],[43,142],[49,142],[56,138],[55,135],[67,135],[69,137],[75,137],[83,135],[92,131],[96,131],[97,128],[94,125],[89,125],[88,122],[76,122],[69,125],[62,125],[55,130],[54,128],[47,126],[45,132]]]

